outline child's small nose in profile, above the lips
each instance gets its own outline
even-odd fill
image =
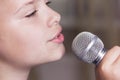
[[[49,17],[49,21],[48,21],[49,27],[58,25],[60,23],[60,20],[61,20],[61,15],[52,9],[50,10],[49,13],[50,13],[49,14],[50,17]]]

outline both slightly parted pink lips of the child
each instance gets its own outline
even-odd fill
[[[54,43],[62,43],[64,42],[64,35],[61,33],[62,30],[59,31],[59,33],[57,33],[55,35],[54,38],[52,38],[50,41],[54,42]]]

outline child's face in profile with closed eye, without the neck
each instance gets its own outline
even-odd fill
[[[0,2],[0,59],[14,65],[33,66],[62,57],[64,37],[60,15],[50,9],[47,2]]]

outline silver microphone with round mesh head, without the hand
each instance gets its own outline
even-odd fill
[[[102,40],[90,32],[79,33],[73,40],[72,50],[80,60],[95,65],[100,63],[106,53]]]

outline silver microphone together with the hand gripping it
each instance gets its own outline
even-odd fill
[[[72,49],[79,59],[96,65],[97,80],[120,80],[120,47],[106,52],[96,35],[82,32],[73,40]]]

